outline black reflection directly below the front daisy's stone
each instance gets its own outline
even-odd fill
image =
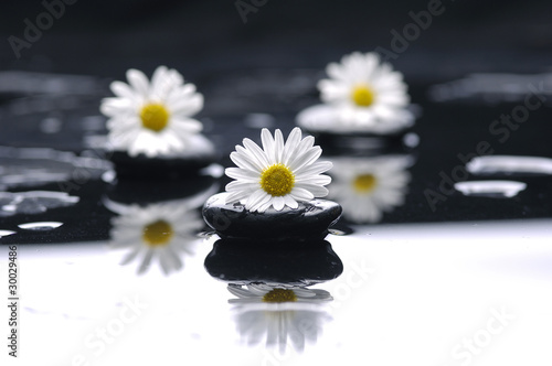
[[[221,239],[206,256],[205,269],[212,277],[232,283],[309,286],[337,278],[343,263],[326,240],[264,246],[254,239]]]

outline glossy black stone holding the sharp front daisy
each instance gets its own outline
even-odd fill
[[[225,204],[225,195],[216,194],[203,206],[203,218],[222,238],[265,241],[323,239],[328,226],[341,215],[341,206],[327,200],[300,202],[296,209],[270,207],[264,213],[252,213],[242,204]]]

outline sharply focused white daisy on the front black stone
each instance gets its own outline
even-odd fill
[[[323,197],[331,182],[321,173],[331,169],[331,162],[317,162],[322,150],[315,147],[311,136],[301,140],[301,130],[295,128],[284,143],[280,130],[274,138],[267,129],[261,132],[263,149],[250,139],[230,159],[238,168],[227,168],[226,175],[235,181],[226,185],[226,203],[241,202],[251,212],[265,212],[274,206],[297,208],[298,202]]]

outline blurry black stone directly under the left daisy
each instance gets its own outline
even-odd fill
[[[114,151],[110,160],[115,164],[117,177],[187,177],[215,161],[211,153],[185,158],[147,158],[144,154],[130,157],[123,151]]]

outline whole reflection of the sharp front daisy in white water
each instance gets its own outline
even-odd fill
[[[317,341],[323,324],[331,320],[328,311],[320,308],[332,300],[323,290],[230,284],[229,291],[238,297],[229,302],[236,304],[237,330],[248,345],[264,341],[266,346],[284,353],[289,343],[302,351],[307,342]]]

